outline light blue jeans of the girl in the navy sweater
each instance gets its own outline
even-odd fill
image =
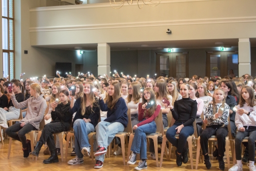
[[[96,139],[98,146],[103,146],[107,149],[107,146],[113,140],[114,136],[118,132],[122,132],[124,130],[123,124],[120,122],[107,122],[100,121],[96,125]],[[104,154],[95,156],[96,160],[104,161]]]

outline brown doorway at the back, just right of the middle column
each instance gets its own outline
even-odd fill
[[[156,53],[155,71],[159,76],[188,77],[188,53]]]

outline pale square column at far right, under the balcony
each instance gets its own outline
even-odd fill
[[[250,40],[249,38],[239,38],[238,42],[238,75],[245,73],[250,75]]]

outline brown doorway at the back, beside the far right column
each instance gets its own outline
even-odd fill
[[[207,51],[206,52],[206,75],[220,76],[223,78],[233,70],[238,76],[238,51]]]

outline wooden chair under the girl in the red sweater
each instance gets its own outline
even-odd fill
[[[159,114],[154,119],[154,121],[156,123],[156,131],[155,131],[155,133],[146,134],[146,137],[153,139],[154,151],[157,154],[157,137],[161,136],[162,134],[164,134],[164,132],[163,132],[163,124],[162,124],[162,110],[159,111]],[[132,143],[134,134],[135,133],[131,133],[130,137],[129,137],[129,145],[128,145],[128,151],[127,151],[127,161],[129,160],[130,148],[131,148],[131,143]],[[155,160],[156,160],[156,166],[158,167],[158,155],[155,156]]]

